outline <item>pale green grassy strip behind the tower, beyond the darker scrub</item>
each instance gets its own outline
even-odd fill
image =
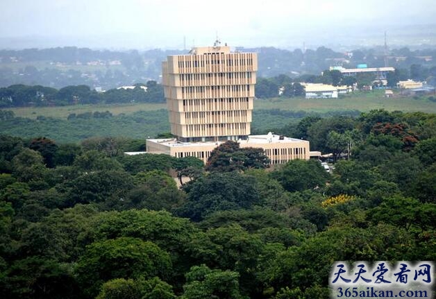
[[[436,113],[436,103],[428,101],[427,97],[414,98],[412,96],[396,96],[385,98],[383,90],[373,92],[356,92],[339,99],[303,99],[303,98],[276,98],[276,99],[256,99],[254,102],[255,110],[288,110],[305,112],[335,112],[335,111],[369,111],[374,109],[385,109],[389,111],[400,110],[404,112],[422,111]],[[65,118],[71,113],[83,113],[94,111],[110,111],[114,115],[121,113],[131,114],[137,111],[153,111],[166,109],[165,103],[137,103],[119,105],[75,105],[65,107],[27,107],[13,108],[17,117],[35,119],[38,115],[45,117]]]

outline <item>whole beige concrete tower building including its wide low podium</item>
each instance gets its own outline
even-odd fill
[[[221,142],[263,148],[271,164],[309,159],[309,142],[268,133],[250,135],[256,53],[231,52],[229,46],[194,48],[162,62],[162,84],[172,139],[147,139],[146,151],[206,162]],[[315,153],[317,155],[319,153]]]

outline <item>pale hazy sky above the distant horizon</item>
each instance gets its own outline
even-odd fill
[[[435,0],[1,0],[0,48],[46,40],[181,49],[184,38],[189,48],[212,44],[217,33],[235,46],[283,46],[366,28],[382,36],[392,26],[434,24],[435,16]]]

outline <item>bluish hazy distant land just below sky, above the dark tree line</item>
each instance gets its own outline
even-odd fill
[[[270,78],[285,74],[290,77],[318,75],[330,66],[384,66],[383,49],[356,49],[335,52],[324,46],[316,50],[294,51],[262,47],[239,49],[258,53],[258,76]],[[51,49],[0,50],[0,87],[15,84],[43,85],[62,88],[88,85],[91,89],[111,89],[149,80],[160,82],[161,62],[167,55],[186,51],[97,51],[74,46]],[[389,51],[389,66],[410,69],[411,65],[435,66],[436,50]]]

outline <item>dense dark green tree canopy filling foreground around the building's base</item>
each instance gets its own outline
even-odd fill
[[[124,155],[143,146],[126,137],[0,135],[1,298],[324,299],[334,261],[436,260],[436,114],[305,116],[277,133],[335,153],[333,173],[264,168],[231,143],[206,169]]]

